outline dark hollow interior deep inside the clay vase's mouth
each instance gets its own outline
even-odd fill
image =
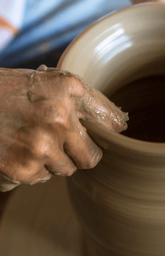
[[[131,82],[111,97],[123,111],[129,112],[129,125],[121,134],[150,142],[165,142],[165,76],[150,76]]]

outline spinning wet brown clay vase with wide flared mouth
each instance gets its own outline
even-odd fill
[[[125,8],[92,24],[58,67],[124,112],[122,134],[82,121],[103,158],[67,177],[85,256],[165,255],[165,4]]]

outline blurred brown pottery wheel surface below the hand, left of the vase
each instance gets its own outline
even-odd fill
[[[81,229],[64,177],[14,190],[0,224],[0,255],[80,256]]]

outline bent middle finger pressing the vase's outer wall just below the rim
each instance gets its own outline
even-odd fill
[[[101,147],[94,143],[79,121],[75,131],[70,132],[66,138],[64,149],[66,154],[74,160],[78,169],[93,168],[103,155]]]

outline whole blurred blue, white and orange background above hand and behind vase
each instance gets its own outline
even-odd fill
[[[0,0],[0,66],[56,67],[82,30],[129,5],[131,0]]]

